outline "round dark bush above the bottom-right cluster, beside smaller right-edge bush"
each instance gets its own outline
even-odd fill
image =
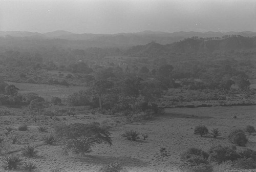
[[[228,135],[228,139],[231,143],[237,144],[239,146],[245,146],[248,142],[244,132],[242,130],[232,131]]]

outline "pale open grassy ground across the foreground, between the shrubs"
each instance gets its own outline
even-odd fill
[[[124,116],[110,116],[99,114],[79,114],[75,117],[58,116],[60,121],[52,120],[49,117],[41,117],[37,122],[33,122],[30,116],[20,114],[17,116],[1,116],[1,132],[4,137],[5,126],[17,128],[22,123],[27,123],[27,132],[14,131],[13,135],[18,135],[20,143],[10,144],[10,136],[6,137],[3,144],[8,150],[19,150],[26,144],[41,144],[36,149],[38,156],[32,159],[37,165],[37,171],[48,172],[51,169],[60,168],[61,171],[83,172],[99,171],[102,166],[118,161],[122,164],[123,171],[180,171],[178,169],[181,161],[180,154],[189,147],[198,147],[203,150],[209,149],[213,145],[231,145],[227,140],[227,135],[234,128],[244,129],[246,125],[256,124],[256,106],[233,106],[233,107],[198,107],[194,109],[175,108],[165,109],[165,115],[155,117],[151,120],[126,123]],[[237,119],[232,119],[236,115]],[[84,157],[75,154],[63,155],[61,145],[44,145],[41,138],[47,133],[39,133],[37,126],[46,125],[48,131],[53,131],[52,127],[60,122],[66,123],[88,123],[92,121],[107,121],[105,123],[116,122],[118,126],[110,129],[113,145],[100,144],[93,147],[93,151]],[[126,123],[126,124],[125,124]],[[219,128],[222,135],[214,139],[212,137],[201,137],[194,135],[194,127],[205,125],[209,130]],[[138,139],[129,141],[121,137],[125,131],[134,130],[140,134],[148,134],[146,140]],[[247,134],[248,135],[248,134]],[[256,135],[248,135],[249,143],[247,148],[256,150]],[[166,147],[170,157],[162,161],[157,156],[160,147]],[[238,149],[244,149],[238,147]],[[20,154],[16,152],[15,154]],[[2,162],[0,162],[2,165]],[[2,169],[1,169],[2,170]],[[0,171],[1,171],[0,170]]]

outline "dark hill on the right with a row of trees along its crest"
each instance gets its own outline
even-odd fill
[[[151,42],[133,46],[125,52],[127,56],[166,56],[172,53],[212,53],[232,50],[256,50],[256,37],[223,36],[186,38],[173,44],[160,45]]]

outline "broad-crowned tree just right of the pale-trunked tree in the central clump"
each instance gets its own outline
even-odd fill
[[[133,112],[135,111],[135,103],[141,91],[141,78],[125,79],[120,84],[120,90],[132,104]]]

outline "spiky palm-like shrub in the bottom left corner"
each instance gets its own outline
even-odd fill
[[[1,161],[4,163],[3,167],[7,170],[17,169],[18,165],[20,165],[20,157],[18,155],[12,155],[9,157],[4,157],[1,159]]]

